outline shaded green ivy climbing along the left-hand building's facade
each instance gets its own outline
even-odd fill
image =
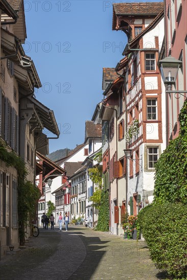
[[[24,245],[25,230],[28,223],[35,218],[40,191],[26,180],[28,172],[24,161],[14,151],[9,152],[8,149],[8,146],[0,141],[0,159],[7,167],[11,166],[17,170],[19,241],[20,245]]]

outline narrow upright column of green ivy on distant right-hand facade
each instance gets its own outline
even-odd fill
[[[97,231],[109,231],[109,191],[101,190],[101,204],[99,207]]]

